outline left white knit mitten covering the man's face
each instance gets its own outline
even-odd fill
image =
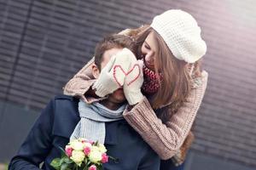
[[[125,73],[129,69],[132,57],[135,57],[134,54],[127,48],[113,55],[108,64],[102,68],[100,76],[92,86],[93,89],[96,89],[98,96],[104,97],[107,94],[112,94],[113,91],[124,85]]]

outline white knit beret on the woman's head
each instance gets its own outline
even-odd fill
[[[167,10],[155,16],[150,26],[165,40],[177,59],[194,63],[207,52],[207,44],[201,39],[201,28],[194,17],[183,10]]]

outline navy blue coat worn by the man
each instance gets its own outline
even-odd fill
[[[49,163],[61,156],[59,147],[64,148],[69,142],[80,120],[79,100],[73,97],[56,96],[46,106],[32,127],[17,155],[9,163],[9,169],[52,169]],[[157,170],[160,158],[140,135],[125,120],[106,123],[105,146],[108,155],[119,159],[109,161],[104,170]]]

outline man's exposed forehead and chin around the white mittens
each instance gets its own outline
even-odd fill
[[[105,51],[105,53],[102,56],[102,69],[104,68],[104,66],[108,64],[108,61],[111,59],[111,57],[120,51],[122,51],[122,48],[111,48]],[[110,94],[108,96],[108,100],[117,104],[125,102],[126,99],[123,88],[115,90],[113,94]]]

